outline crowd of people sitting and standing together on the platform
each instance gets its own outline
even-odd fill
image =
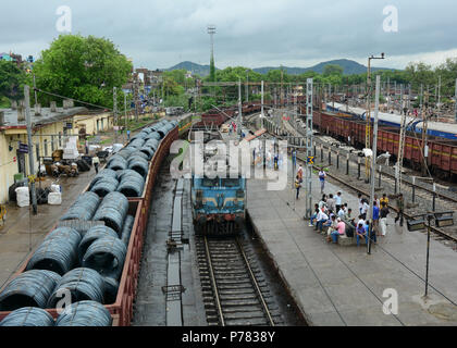
[[[360,240],[368,244],[368,238],[376,244],[379,236],[385,237],[387,234],[387,215],[390,213],[387,195],[383,194],[380,199],[374,195],[371,228],[370,220],[367,219],[370,204],[361,194],[358,195],[358,215],[356,216],[353,209],[347,203],[343,203],[341,191],[335,196],[324,194],[319,203],[314,204],[309,226],[314,226],[316,231],[326,236],[329,243],[333,240],[336,244],[339,236],[346,236],[356,237],[357,246],[360,246]],[[403,194],[398,195],[397,208],[398,214],[395,217],[395,223],[399,220],[400,226],[403,226]]]

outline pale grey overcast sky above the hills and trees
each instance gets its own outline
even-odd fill
[[[72,34],[103,36],[136,67],[181,61],[209,64],[207,25],[214,24],[215,65],[307,67],[347,58],[404,69],[457,58],[455,0],[15,0],[0,2],[0,52],[39,57],[59,36],[61,5]],[[385,7],[398,10],[398,32],[383,29]]]

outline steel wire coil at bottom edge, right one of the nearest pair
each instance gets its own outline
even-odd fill
[[[63,310],[55,326],[111,326],[112,318],[104,306],[95,301],[72,303]]]

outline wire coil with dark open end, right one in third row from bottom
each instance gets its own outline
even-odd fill
[[[113,237],[103,237],[94,241],[83,258],[83,266],[96,270],[103,276],[119,279],[124,268],[127,248]]]

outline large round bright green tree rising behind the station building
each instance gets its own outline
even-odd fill
[[[127,82],[132,67],[108,39],[61,35],[41,52],[34,71],[38,88],[111,108],[113,87],[118,87],[118,100],[122,100],[121,87]],[[59,99],[40,94],[40,100],[48,103]]]

